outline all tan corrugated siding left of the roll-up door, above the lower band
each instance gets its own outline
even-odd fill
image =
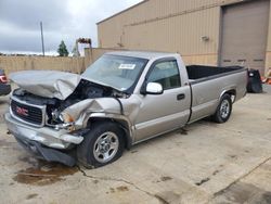
[[[149,0],[98,24],[99,46],[217,53],[221,3],[242,0]],[[209,36],[203,42],[202,36]],[[167,39],[167,42],[165,42]]]

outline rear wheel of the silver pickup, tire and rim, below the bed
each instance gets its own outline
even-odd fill
[[[220,99],[220,103],[216,113],[211,116],[211,119],[218,124],[225,123],[232,113],[232,99],[230,94],[223,94]]]

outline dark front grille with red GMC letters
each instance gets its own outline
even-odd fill
[[[11,101],[12,114],[31,125],[42,126],[43,125],[43,112],[41,107],[21,103],[18,101]]]

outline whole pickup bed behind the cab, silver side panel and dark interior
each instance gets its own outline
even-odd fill
[[[241,66],[186,66],[192,90],[192,115],[190,123],[216,112],[223,91],[232,91],[235,100],[246,92],[246,68]]]

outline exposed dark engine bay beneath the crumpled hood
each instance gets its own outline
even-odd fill
[[[66,107],[86,99],[114,98],[119,101],[119,98],[129,97],[129,94],[125,92],[118,91],[111,87],[98,85],[86,79],[81,79],[74,92],[65,100],[39,97],[22,88],[15,89],[13,91],[13,95],[29,104],[46,105],[46,112],[48,116],[46,123],[47,125],[57,125],[63,123],[60,117],[61,112],[64,111]]]

